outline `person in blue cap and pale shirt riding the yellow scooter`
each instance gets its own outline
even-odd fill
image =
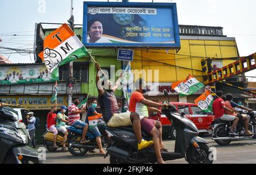
[[[67,107],[64,106],[60,106],[60,112],[57,114],[57,120],[56,120],[56,128],[60,133],[64,134],[63,137],[63,148],[62,150],[64,152],[67,151],[67,148],[65,146],[65,143],[67,142],[67,136],[68,136],[68,131],[67,131],[67,125],[66,123],[68,123],[68,117],[65,115],[65,112],[67,111]]]

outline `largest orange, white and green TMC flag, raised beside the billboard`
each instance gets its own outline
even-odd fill
[[[44,51],[39,54],[52,74],[57,67],[88,55],[88,51],[68,24],[50,33],[44,40]]]

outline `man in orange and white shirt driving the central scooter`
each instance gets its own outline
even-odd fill
[[[139,78],[135,82],[135,89],[136,91],[134,91],[130,97],[129,111],[139,114],[139,117],[141,118],[142,130],[146,131],[146,133],[150,134],[153,138],[154,150],[158,163],[164,164],[165,162],[160,151],[167,150],[164,148],[162,141],[162,124],[161,122],[154,119],[149,119],[148,110],[161,113],[159,109],[154,107],[163,108],[168,106],[168,104],[159,104],[150,100],[146,100],[143,96],[143,93],[146,93],[148,88],[146,82],[142,78]]]

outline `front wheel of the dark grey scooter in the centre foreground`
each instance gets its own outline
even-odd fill
[[[209,150],[209,147],[205,143],[199,143],[199,152],[193,146],[189,146],[186,152],[186,160],[189,164],[212,164],[213,157],[210,157],[212,151]],[[213,155],[212,155],[213,156]],[[210,159],[209,159],[210,158]]]

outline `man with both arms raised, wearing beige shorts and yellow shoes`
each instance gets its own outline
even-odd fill
[[[114,92],[118,88],[122,74],[113,86],[110,80],[104,81],[104,88],[102,88],[100,80],[101,67],[98,63],[95,63],[97,74],[96,74],[96,86],[98,89],[98,101],[101,106],[102,116],[107,126],[109,127],[120,127],[120,126],[133,126],[134,134],[138,140],[138,150],[150,147],[154,142],[152,140],[146,141],[142,139],[141,135],[141,120],[139,115],[134,112],[120,113],[115,98]]]

